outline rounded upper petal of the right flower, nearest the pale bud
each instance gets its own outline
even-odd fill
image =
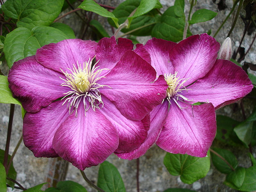
[[[170,60],[180,78],[189,78],[187,86],[204,77],[212,68],[220,44],[205,34],[190,36],[173,47]]]

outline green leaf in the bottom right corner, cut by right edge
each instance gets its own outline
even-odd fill
[[[238,167],[227,175],[224,184],[239,191],[256,190],[256,166],[247,169]]]

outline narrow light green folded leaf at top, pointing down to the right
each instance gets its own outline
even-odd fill
[[[115,15],[113,13],[109,12],[108,10],[104,9],[103,7],[101,7],[99,4],[97,4],[93,0],[84,0],[78,6],[78,8],[84,9],[85,11],[95,12],[95,13],[99,14],[102,17],[111,18],[115,22],[116,27],[119,27],[119,25],[117,23],[118,19],[115,17]]]

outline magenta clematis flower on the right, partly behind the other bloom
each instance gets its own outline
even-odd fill
[[[169,87],[162,104],[150,113],[146,141],[117,156],[138,158],[155,142],[170,153],[206,156],[216,134],[215,110],[251,92],[252,82],[233,62],[216,60],[220,44],[207,34],[178,44],[153,38],[144,48],[157,76],[164,75]],[[204,104],[193,105],[196,102]]]

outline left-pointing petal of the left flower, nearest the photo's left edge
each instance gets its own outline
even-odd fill
[[[57,71],[46,68],[35,59],[26,57],[14,62],[9,71],[9,87],[13,97],[18,98],[24,109],[35,113],[52,101],[63,97],[68,87],[60,86],[65,76]]]

